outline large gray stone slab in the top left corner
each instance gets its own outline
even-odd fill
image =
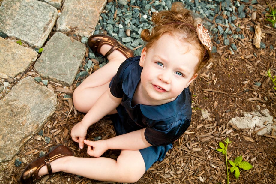
[[[36,0],[4,0],[0,7],[0,30],[40,48],[55,25],[58,11]]]

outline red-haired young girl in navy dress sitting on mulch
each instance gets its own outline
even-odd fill
[[[71,130],[74,141],[93,158],[74,157],[66,146],[29,164],[20,181],[31,183],[45,174],[63,171],[87,178],[133,183],[156,161],[162,161],[191,121],[189,84],[211,59],[208,30],[182,3],[153,16],[155,27],[143,30],[147,42],[141,56],[106,35],[92,35],[91,49],[109,63],[79,85],[74,106],[86,113]],[[85,139],[89,126],[112,114],[116,137]],[[120,149],[117,160],[100,157]]]

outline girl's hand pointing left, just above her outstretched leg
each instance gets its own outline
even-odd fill
[[[107,145],[104,140],[90,141],[84,140],[87,147],[87,154],[94,157],[100,157],[104,152],[107,151]]]

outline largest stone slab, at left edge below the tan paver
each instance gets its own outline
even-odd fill
[[[0,162],[10,160],[55,112],[57,97],[32,77],[17,83],[0,100]]]

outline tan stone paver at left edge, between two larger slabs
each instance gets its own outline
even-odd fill
[[[0,37],[0,56],[0,78],[6,78],[4,75],[15,77],[24,72],[35,62],[38,53],[33,49]]]

